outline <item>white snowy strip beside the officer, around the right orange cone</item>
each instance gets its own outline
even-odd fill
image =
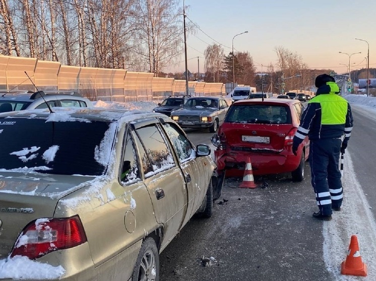
[[[344,200],[341,211],[333,212],[333,220],[324,222],[324,261],[336,280],[359,280],[359,277],[341,274],[341,263],[346,259],[351,235],[356,235],[362,261],[368,268],[368,275],[362,280],[374,281],[376,223],[348,153],[345,154],[342,185]]]

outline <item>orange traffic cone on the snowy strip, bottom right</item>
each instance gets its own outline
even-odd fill
[[[362,262],[356,235],[351,236],[346,260],[341,264],[341,274],[367,276],[367,266]]]

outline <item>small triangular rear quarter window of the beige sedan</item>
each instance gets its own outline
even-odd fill
[[[130,133],[128,133],[126,142],[124,143],[124,157],[120,170],[121,183],[131,184],[140,180],[136,149]]]

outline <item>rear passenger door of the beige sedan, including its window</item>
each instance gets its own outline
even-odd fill
[[[164,248],[180,229],[186,213],[187,196],[185,177],[157,123],[153,119],[134,124],[134,139],[155,218],[164,225],[161,244]]]

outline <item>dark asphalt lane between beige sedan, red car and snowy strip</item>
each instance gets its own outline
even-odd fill
[[[212,133],[186,130],[195,144]],[[192,219],[162,252],[160,279],[169,280],[336,280],[323,260],[323,222],[310,185],[290,174],[255,177],[257,189],[241,189],[228,178],[213,217]],[[202,259],[212,258],[204,265]]]

